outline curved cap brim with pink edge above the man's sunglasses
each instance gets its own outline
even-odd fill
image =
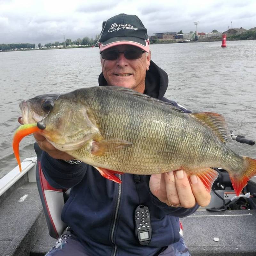
[[[103,43],[99,43],[100,52],[121,44],[129,44],[140,49],[144,50],[145,52],[149,52],[149,39],[141,39],[138,37],[132,36],[119,36],[119,37],[112,37]]]

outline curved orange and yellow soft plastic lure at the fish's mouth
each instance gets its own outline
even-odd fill
[[[32,134],[34,132],[38,132],[40,129],[35,124],[22,124],[16,130],[12,140],[12,149],[14,152],[14,156],[19,164],[20,172],[21,172],[21,164],[20,164],[20,154],[19,154],[19,145],[20,141],[27,135]]]

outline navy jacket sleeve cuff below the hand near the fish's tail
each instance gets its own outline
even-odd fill
[[[184,208],[184,207],[176,208],[176,207],[168,206],[167,204],[161,202],[156,196],[154,196],[151,193],[150,188],[149,188],[149,179],[150,179],[150,175],[143,175],[144,185],[146,186],[146,188],[148,190],[151,202],[153,204],[155,204],[158,208],[160,208],[162,211],[164,211],[166,214],[172,215],[175,217],[179,217],[179,218],[183,218],[183,217],[186,217],[186,216],[196,212],[196,210],[198,209],[198,207],[199,207],[198,204],[196,204],[192,208]]]

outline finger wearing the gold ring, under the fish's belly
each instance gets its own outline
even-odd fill
[[[167,195],[166,204],[170,206],[179,205],[180,199],[175,186],[174,172],[171,171],[171,172],[164,173],[164,178],[165,178],[165,189],[166,189],[166,195]]]

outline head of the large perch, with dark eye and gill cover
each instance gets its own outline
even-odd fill
[[[86,103],[72,94],[40,95],[20,103],[22,124],[43,120],[42,135],[57,149],[71,151],[99,131]]]

